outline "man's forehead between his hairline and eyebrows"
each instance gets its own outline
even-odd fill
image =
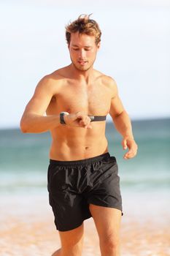
[[[72,33],[70,45],[90,46],[95,45],[95,37],[88,34]]]

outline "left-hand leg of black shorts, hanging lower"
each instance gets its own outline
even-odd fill
[[[51,164],[48,169],[49,203],[59,231],[73,230],[91,217],[88,203],[77,191],[77,168]]]

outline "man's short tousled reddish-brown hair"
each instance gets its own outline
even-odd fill
[[[91,14],[90,14],[91,15]],[[88,34],[94,36],[96,45],[101,41],[101,30],[95,20],[90,19],[90,15],[80,15],[77,20],[70,22],[66,26],[66,42],[70,43],[71,34],[79,32],[80,34]]]

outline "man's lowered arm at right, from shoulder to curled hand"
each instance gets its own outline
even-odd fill
[[[109,114],[112,117],[112,121],[115,124],[115,128],[123,136],[123,140],[122,140],[123,149],[125,150],[128,148],[128,151],[125,153],[123,158],[130,159],[136,156],[138,146],[134,140],[134,135],[131,127],[131,120],[128,116],[128,113],[123,108],[123,104],[118,95],[117,85],[115,83],[115,80],[112,80],[111,88],[112,88],[112,99],[111,99]]]

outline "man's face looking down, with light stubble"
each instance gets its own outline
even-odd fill
[[[93,67],[99,46],[99,43],[96,45],[94,36],[72,33],[69,53],[74,67],[80,71],[87,71]]]

